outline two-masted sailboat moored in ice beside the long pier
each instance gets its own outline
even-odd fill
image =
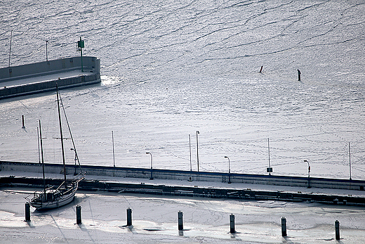
[[[40,131],[40,141],[41,141],[41,158],[42,158],[42,171],[43,171],[43,182],[44,182],[44,190],[41,192],[34,192],[34,196],[32,199],[29,200],[29,204],[32,205],[32,207],[35,207],[36,210],[46,210],[46,209],[52,209],[56,207],[61,207],[63,205],[67,205],[68,203],[71,203],[72,200],[74,200],[74,195],[77,191],[77,188],[79,187],[79,182],[85,179],[85,173],[80,172],[76,176],[74,176],[74,179],[72,181],[67,181],[66,178],[66,166],[65,166],[65,150],[63,146],[63,136],[62,136],[62,123],[61,123],[61,113],[60,113],[60,100],[62,103],[62,99],[60,99],[58,88],[57,88],[57,105],[58,105],[58,120],[60,122],[60,141],[61,141],[61,148],[62,148],[62,161],[63,161],[63,174],[64,174],[64,180],[58,188],[53,189],[46,187],[46,178],[44,174],[44,157],[43,157],[43,143],[42,143],[42,136],[41,136],[41,121],[39,120],[39,131]],[[63,108],[63,104],[62,104]],[[65,109],[63,108],[63,111],[65,113]],[[66,115],[66,113],[65,113]],[[67,117],[66,117],[67,121]],[[68,125],[68,121],[67,121]],[[70,130],[69,130],[70,131]],[[71,131],[70,131],[71,134]],[[71,136],[72,138],[72,136]],[[72,139],[72,143],[74,144],[74,140]],[[75,147],[74,147],[75,148]],[[77,160],[79,159],[77,157],[77,151],[76,148],[74,149],[75,155]]]

